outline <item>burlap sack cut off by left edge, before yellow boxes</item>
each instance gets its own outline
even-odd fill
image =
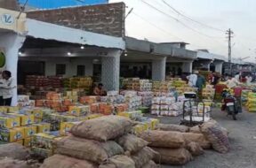
[[[12,157],[18,160],[26,160],[28,155],[28,149],[18,143],[0,145],[0,157]]]

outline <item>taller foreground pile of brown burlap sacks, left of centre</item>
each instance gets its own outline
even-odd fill
[[[129,134],[129,118],[106,116],[84,121],[70,136],[55,142],[55,155],[41,168],[155,168],[155,151],[148,142]]]

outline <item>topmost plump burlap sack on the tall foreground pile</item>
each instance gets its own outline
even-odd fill
[[[81,122],[71,128],[75,136],[96,140],[108,141],[132,131],[132,120],[119,116],[105,116]]]

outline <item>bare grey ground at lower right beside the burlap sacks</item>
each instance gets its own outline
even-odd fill
[[[212,118],[229,132],[231,149],[228,154],[206,150],[203,156],[195,157],[184,166],[163,165],[162,168],[255,168],[256,167],[256,113],[244,111],[236,121],[226,113],[214,109]],[[159,118],[161,123],[178,124],[180,118]]]

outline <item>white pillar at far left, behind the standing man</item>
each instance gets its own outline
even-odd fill
[[[17,71],[18,71],[18,57],[19,50],[25,41],[24,36],[14,33],[0,34],[0,49],[5,53],[5,66],[4,69],[12,73],[13,85],[17,87]],[[12,105],[17,105],[17,88],[12,89]]]

